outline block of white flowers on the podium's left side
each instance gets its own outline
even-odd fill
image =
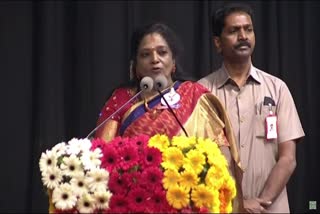
[[[109,172],[100,167],[101,157],[89,139],[77,138],[42,153],[39,166],[50,213],[92,213],[109,207]]]

